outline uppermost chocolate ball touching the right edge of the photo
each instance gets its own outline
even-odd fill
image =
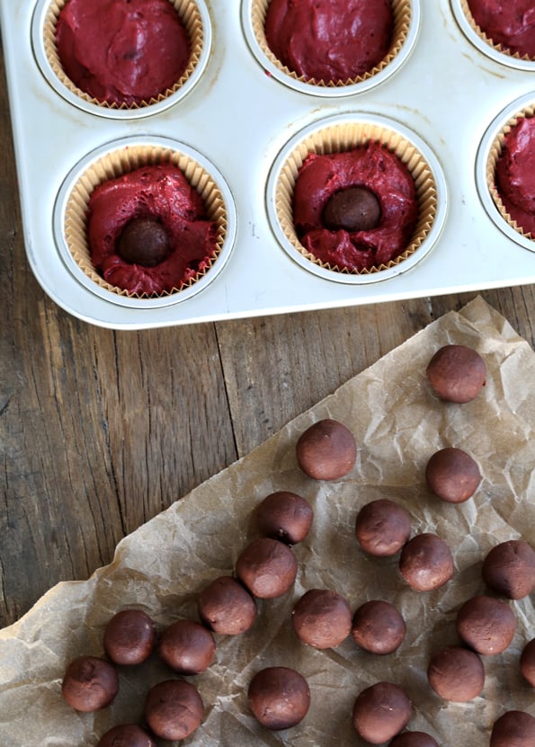
[[[483,580],[511,600],[521,600],[535,589],[535,550],[523,539],[493,547],[482,567]]]

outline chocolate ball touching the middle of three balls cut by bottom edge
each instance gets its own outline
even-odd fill
[[[382,744],[406,727],[412,710],[405,690],[391,682],[377,682],[357,696],[353,726],[366,742]]]

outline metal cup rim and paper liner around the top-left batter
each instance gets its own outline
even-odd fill
[[[204,72],[212,43],[210,14],[204,0],[170,0],[180,15],[192,42],[188,67],[173,88],[142,105],[120,105],[99,102],[81,91],[66,76],[58,58],[56,25],[67,0],[38,0],[31,18],[31,47],[42,75],[51,87],[78,109],[113,120],[135,120],[165,111],[182,101]]]

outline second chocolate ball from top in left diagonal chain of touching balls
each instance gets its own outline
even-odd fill
[[[290,547],[270,537],[255,539],[236,561],[237,577],[254,597],[263,600],[286,593],[297,572],[298,563]]]

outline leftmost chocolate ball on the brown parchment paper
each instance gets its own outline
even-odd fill
[[[118,691],[115,667],[98,656],[79,656],[69,663],[61,683],[68,705],[84,713],[109,706]]]

